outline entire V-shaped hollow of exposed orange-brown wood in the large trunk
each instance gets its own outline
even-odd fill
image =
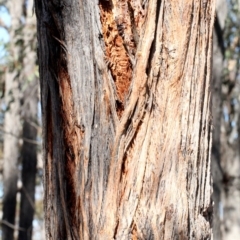
[[[132,81],[135,53],[145,14],[138,1],[101,0],[99,7],[105,60],[115,82],[116,112],[121,117]]]

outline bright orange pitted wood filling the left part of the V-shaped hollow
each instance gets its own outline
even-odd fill
[[[122,38],[124,26],[123,24],[116,24],[112,7],[108,1],[100,1],[100,20],[105,42],[106,63],[115,82],[117,92],[116,111],[118,116],[121,117],[131,83],[132,64]]]

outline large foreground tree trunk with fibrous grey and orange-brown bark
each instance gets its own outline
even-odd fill
[[[210,239],[214,1],[35,1],[48,239]]]

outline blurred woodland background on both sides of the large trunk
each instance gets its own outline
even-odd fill
[[[212,175],[217,240],[240,239],[240,0],[217,0]],[[0,238],[45,239],[33,0],[0,0]]]

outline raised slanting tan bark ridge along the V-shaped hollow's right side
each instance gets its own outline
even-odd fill
[[[151,25],[153,28],[155,26],[155,24],[154,24],[155,13],[153,11],[155,4],[156,4],[156,2],[153,1],[151,8],[148,9],[150,14],[148,13],[148,17],[146,19],[148,24]],[[134,136],[134,133],[136,132],[138,125],[143,117],[145,104],[147,101],[146,100],[147,76],[146,76],[145,71],[147,68],[148,56],[150,54],[150,48],[152,45],[153,36],[154,36],[153,32],[151,32],[150,29],[146,29],[146,31],[142,35],[142,39],[140,38],[139,44],[141,44],[141,41],[146,41],[147,43],[145,43],[143,45],[141,54],[139,54],[139,55],[136,54],[137,60],[136,60],[136,65],[135,65],[134,72],[133,72],[134,82],[132,83],[131,92],[129,94],[129,101],[127,102],[127,108],[123,112],[123,116],[122,116],[120,124],[117,128],[112,161],[115,158],[118,160],[116,163],[113,162],[112,166],[110,165],[111,168],[110,168],[110,174],[109,174],[108,190],[111,189],[111,191],[112,191],[112,189],[116,189],[115,192],[118,192],[117,189],[119,188],[119,180],[120,180],[120,176],[121,176],[121,166],[122,166],[122,160],[123,160],[124,149],[125,149],[124,145],[126,143],[130,142],[131,138]],[[145,58],[143,58],[143,56]],[[142,95],[142,97],[138,99],[139,93]],[[134,111],[134,109],[135,109],[135,111]],[[130,125],[131,128],[129,128],[128,127],[129,125],[127,125],[127,123],[129,122],[128,119],[130,119],[130,118],[131,118],[131,123],[132,123]],[[131,137],[130,139],[125,140],[125,137],[123,135],[125,131],[130,132],[130,134],[129,134],[129,136]],[[141,182],[141,180],[140,180],[140,182]],[[119,197],[117,197],[116,200],[118,198]],[[110,201],[115,202],[116,200],[113,200],[113,199],[109,198],[109,199],[107,199],[107,202],[110,202]],[[118,200],[117,200],[117,202],[118,202]],[[117,202],[116,202],[116,204],[117,204]],[[108,204],[109,203],[106,203],[106,206],[108,206]],[[116,209],[116,207],[114,207],[114,209]],[[117,213],[113,212],[113,216],[116,214]]]

